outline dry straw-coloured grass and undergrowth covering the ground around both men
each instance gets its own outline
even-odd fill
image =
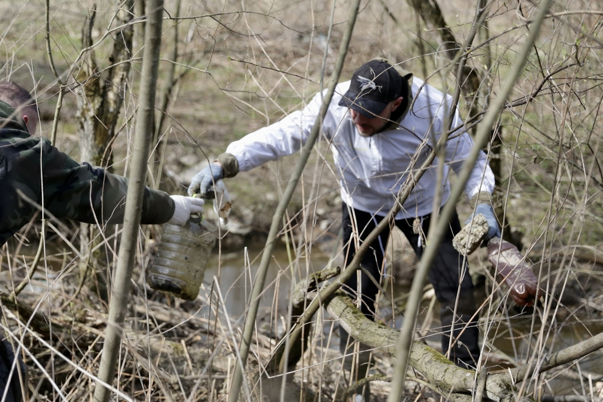
[[[453,33],[464,40],[470,31],[475,5],[461,1],[441,3]],[[166,2],[170,16],[175,16],[175,4]],[[163,156],[166,170],[180,184],[174,191],[183,192],[198,166],[223,152],[230,141],[300,108],[321,87],[321,79],[329,78],[347,15],[346,3],[336,1],[335,5],[331,17],[329,2],[189,2],[183,5],[180,19],[164,21],[166,40],[162,54],[165,57],[174,46],[169,39],[171,32],[176,27],[179,32],[176,70],[180,80],[167,111],[168,125],[162,132],[168,142],[168,152]],[[552,11],[563,11],[566,5],[569,10],[596,8],[586,1],[556,2]],[[74,67],[77,72],[81,63],[78,60],[81,26],[92,2],[51,2],[50,7],[51,48],[56,69],[63,73]],[[115,10],[116,6],[110,3],[98,5],[95,40],[107,33]],[[21,7],[14,2],[0,1],[0,12],[5,27],[2,36],[5,63],[0,71],[4,77],[35,88],[45,120],[42,134],[49,135],[57,80],[46,54],[44,9],[31,2]],[[494,2],[489,13],[490,47],[476,46],[469,63],[483,74],[482,89],[486,91],[491,85],[488,88],[496,93],[513,66],[526,34],[523,23],[529,19],[532,5]],[[538,57],[531,58],[509,99],[514,106],[500,117],[503,127],[500,203],[506,208],[505,217],[510,227],[522,233],[522,244],[535,262],[534,269],[541,273],[549,289],[558,292],[543,310],[525,318],[506,307],[502,292],[486,288],[483,297],[487,303],[482,311],[484,343],[498,356],[507,353],[511,363],[522,364],[532,353],[544,356],[560,345],[600,329],[602,303],[593,291],[601,280],[603,223],[603,173],[598,135],[602,125],[599,116],[601,45],[597,39],[600,18],[597,13],[568,13],[549,20],[538,41]],[[137,25],[137,29],[140,26]],[[327,43],[329,32],[330,43]],[[485,40],[481,34],[474,45]],[[136,107],[140,43],[137,36],[124,121],[133,116]],[[452,73],[434,74],[446,64],[436,53],[439,43],[437,30],[425,27],[407,2],[365,2],[347,56],[344,78],[363,61],[382,54],[404,63],[422,78],[429,77],[429,82],[437,87],[453,88]],[[95,60],[102,68],[109,66],[107,54],[111,44],[108,36],[94,50]],[[323,57],[324,76],[321,75]],[[162,62],[160,91],[166,87],[168,63]],[[554,74],[549,77],[549,73]],[[543,91],[523,104],[544,77],[548,79]],[[62,79],[66,79],[69,90],[58,123],[57,146],[78,158],[75,120],[78,83],[69,75]],[[465,117],[469,117],[470,102],[467,98],[461,102],[461,113]],[[475,102],[478,109],[487,108],[484,97]],[[115,143],[113,167],[116,172],[127,172],[128,140],[124,130]],[[314,250],[321,248],[330,253],[338,247],[333,239],[337,233],[340,200],[329,160],[327,147],[317,145],[303,185],[289,209],[288,218],[297,216],[286,225],[288,235],[294,238],[290,243],[291,257],[274,262],[289,280],[295,281],[310,270],[300,258],[307,255],[308,250],[315,247]],[[265,230],[293,164],[295,157],[231,179],[227,185],[235,198],[235,218],[257,232]],[[303,223],[299,218],[303,215],[297,215],[300,211],[312,224],[300,226]],[[469,215],[466,205],[459,205],[459,214]],[[315,219],[317,225],[313,226]],[[32,241],[36,236],[31,233],[35,232],[29,232]],[[55,232],[61,230],[53,229],[49,233],[56,240]],[[151,230],[151,237],[153,233]],[[68,230],[62,234],[69,241],[75,238]],[[325,237],[330,242],[320,243]],[[227,240],[224,238],[225,248]],[[75,269],[77,247],[71,249],[69,241],[54,242],[58,249],[65,248],[70,253],[52,256],[46,252],[45,264],[52,264],[54,268],[39,275],[40,283],[35,291],[27,289],[19,296],[22,305],[33,306],[52,322],[52,336],[40,336],[42,329],[28,323],[26,317],[11,315],[13,308],[4,308],[11,332],[19,338],[23,334],[25,350],[30,353],[24,352],[24,357],[31,370],[32,394],[37,400],[89,400],[94,385],[92,376],[98,371],[106,305],[90,289],[76,292],[79,287]],[[235,244],[240,247],[242,243]],[[147,264],[149,256],[148,249],[141,247],[141,250],[136,267],[139,276],[142,276],[140,267]],[[18,282],[17,278],[24,276],[23,271],[31,263],[29,256],[34,252],[16,250],[12,246],[5,251],[3,267],[10,267],[10,274],[15,278],[14,282],[8,278],[2,282],[8,292],[13,283]],[[392,256],[391,261],[395,262],[393,269],[399,281],[403,280],[399,276],[400,267],[414,262],[412,256],[401,253]],[[472,256],[472,263],[481,278],[491,283],[488,267],[479,251]],[[223,262],[219,260],[218,264]],[[241,264],[242,270],[244,267],[247,265]],[[245,275],[250,276],[248,271]],[[241,322],[229,317],[216,288],[207,289],[207,297],[194,303],[166,302],[159,295],[145,293],[142,283],[142,279],[137,279],[133,285],[116,385],[134,400],[224,400],[235,364]],[[210,280],[206,280],[207,286],[209,283]],[[390,314],[395,321],[395,312],[404,302],[403,292],[400,288],[389,289],[383,305],[394,306]],[[288,292],[288,289],[279,291]],[[490,296],[493,297],[488,298]],[[557,310],[559,300],[561,306],[575,307]],[[434,318],[429,306],[428,300],[425,310],[421,311],[426,330],[437,327],[437,321],[431,321]],[[437,309],[437,305],[432,308]],[[276,311],[267,316],[270,317],[266,320],[266,332],[276,332],[276,323],[285,320]],[[382,317],[385,320],[387,316],[387,308],[384,308]],[[322,329],[324,325],[326,330],[317,332],[307,360],[291,377],[304,392],[320,391],[321,397],[335,400],[347,386],[347,379],[346,373],[341,371],[340,359],[336,353],[332,354],[334,344],[323,344],[323,338],[329,339],[330,335],[327,323],[328,318],[320,321],[317,327]],[[521,333],[517,333],[517,327],[522,327]],[[273,353],[274,342],[273,337],[262,332],[255,334],[244,390],[250,400],[259,400],[260,390],[264,392],[265,388],[274,386],[280,391],[278,379],[268,382],[261,377],[261,366]],[[373,386],[377,400],[387,398],[391,366],[388,357],[377,356],[375,372],[385,376],[385,381]],[[581,373],[595,371],[593,366],[585,361],[572,368]],[[563,375],[572,373],[568,369]],[[570,383],[578,394],[598,392],[596,376],[592,377],[592,384],[585,380],[586,375],[573,377],[581,379]],[[554,388],[550,377],[529,380],[537,392]],[[275,382],[277,385],[273,385]],[[418,384],[420,382],[409,386],[409,394],[429,400],[431,392]],[[419,391],[414,392],[417,389]]]

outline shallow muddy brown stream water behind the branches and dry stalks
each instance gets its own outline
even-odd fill
[[[212,284],[219,283],[224,301],[223,306],[233,318],[242,317],[245,313],[245,305],[251,294],[251,286],[257,273],[263,246],[264,244],[253,244],[241,252],[226,253],[221,256],[213,255],[207,266],[204,286],[209,288]],[[311,258],[301,257],[295,265],[295,272],[289,268],[291,265],[288,261],[289,255],[285,247],[277,247],[273,253],[273,261],[271,261],[265,280],[265,291],[259,304],[257,322],[260,324],[260,330],[263,328],[264,332],[270,332],[273,335],[275,332],[282,333],[283,330],[284,323],[279,321],[279,317],[286,317],[291,294],[291,277],[299,279],[302,276],[299,271],[303,271],[305,273],[303,276],[306,276],[309,270],[320,270],[326,267],[329,256],[319,252],[312,255]],[[394,293],[406,292],[407,289],[394,288],[393,291]],[[386,308],[385,315],[388,314],[387,311]],[[438,311],[437,305],[435,311]],[[538,348],[539,345],[543,345],[539,350],[554,353],[589,338],[592,333],[603,331],[601,320],[588,317],[578,318],[576,315],[572,316],[572,320],[568,320],[562,318],[561,314],[558,317],[553,317],[551,314],[549,317],[552,318],[543,323],[540,314],[541,311],[538,309],[519,314],[519,310],[514,308],[508,308],[508,311],[504,312],[496,311],[487,319],[482,314],[482,333],[485,329],[488,331],[485,349],[493,350],[497,356],[507,355],[512,363],[511,366],[516,363],[526,364],[526,362],[536,364],[537,360],[534,360],[532,354],[534,348]],[[422,318],[425,317],[420,319]],[[398,318],[396,322],[399,327],[400,319]],[[392,325],[391,321],[390,325]],[[437,317],[431,325],[432,327],[438,326]],[[279,328],[275,330],[275,326]],[[267,327],[269,328],[267,329]],[[427,340],[429,344],[438,345],[439,335],[429,336]],[[333,345],[336,343],[331,347]],[[586,377],[581,382],[576,377],[576,373],[578,371],[592,373],[594,377],[591,381],[596,382],[600,376],[603,376],[601,357],[601,351],[597,351],[576,362],[570,370],[571,373],[568,371],[567,375],[558,375],[552,380],[540,381],[540,389],[536,394],[544,392],[546,395],[576,395],[576,393],[580,395],[585,382],[586,388],[589,388],[589,378]],[[498,366],[488,363],[488,366],[492,367],[493,371],[505,370],[505,365]],[[531,392],[534,392],[533,389]]]

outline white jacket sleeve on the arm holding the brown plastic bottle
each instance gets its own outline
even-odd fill
[[[462,127],[463,122],[455,113],[452,128]],[[446,143],[446,161],[452,166],[452,170],[458,175],[463,169],[463,164],[472,152],[475,143],[473,138],[464,129],[459,129],[450,135]],[[465,194],[470,199],[482,191],[492,194],[494,191],[494,173],[488,165],[488,159],[484,151],[480,150],[478,159],[473,164],[473,169],[465,185]]]

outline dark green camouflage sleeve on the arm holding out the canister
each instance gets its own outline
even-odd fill
[[[128,181],[105,169],[78,164],[48,140],[19,152],[14,171],[23,193],[58,218],[86,223],[122,223]],[[40,166],[42,169],[40,169]],[[165,223],[174,214],[174,202],[163,191],[145,187],[140,223]]]

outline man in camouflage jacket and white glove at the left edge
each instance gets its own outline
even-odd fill
[[[42,209],[55,218],[122,223],[127,179],[86,162],[78,164],[46,138],[31,137],[38,121],[30,93],[13,82],[0,82],[0,246],[41,216]],[[195,212],[203,212],[203,199],[145,187],[140,223],[183,225]],[[23,399],[21,380],[27,383],[27,371],[21,359],[17,359],[21,374],[14,364],[13,348],[0,330],[2,401]]]

